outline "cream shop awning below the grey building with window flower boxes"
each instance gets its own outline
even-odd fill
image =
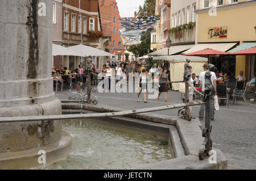
[[[179,52],[183,52],[184,50],[187,50],[189,48],[192,48],[194,45],[177,45],[177,46],[171,46],[170,50],[169,50],[169,54],[176,54]],[[163,48],[160,50],[157,50],[155,52],[152,52],[148,55],[156,55],[156,56],[166,56],[168,54],[168,49],[167,48]]]

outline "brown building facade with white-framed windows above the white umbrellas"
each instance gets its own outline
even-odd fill
[[[102,35],[98,0],[53,0],[53,43],[64,47],[83,44],[105,50],[109,37]],[[56,69],[67,67],[76,69],[82,63],[86,68],[85,57],[55,56]],[[93,56],[97,71],[106,62],[106,57]]]

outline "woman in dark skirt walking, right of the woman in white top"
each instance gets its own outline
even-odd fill
[[[162,92],[164,92],[164,102],[167,102],[168,103],[168,100],[167,100],[167,92],[169,91],[170,89],[170,83],[161,83],[161,82],[170,82],[169,81],[169,76],[167,74],[167,71],[168,69],[167,68],[164,68],[163,69],[163,73],[160,73],[159,75],[159,83],[158,83],[158,86],[159,86],[159,93],[158,93],[158,98],[156,98],[156,100],[159,101],[159,96]]]

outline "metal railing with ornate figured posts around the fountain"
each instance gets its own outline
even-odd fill
[[[154,111],[163,111],[163,110],[171,110],[176,108],[181,108],[181,110],[184,110],[184,119],[187,119],[188,121],[191,121],[191,112],[189,110],[190,106],[198,106],[205,104],[205,128],[203,129],[202,136],[205,137],[204,142],[201,144],[201,148],[199,150],[199,159],[202,160],[205,157],[209,156],[209,151],[212,150],[212,140],[210,140],[210,132],[212,130],[212,127],[210,125],[210,96],[213,96],[214,89],[212,82],[210,80],[210,70],[206,71],[205,73],[205,91],[203,93],[197,91],[195,87],[192,85],[192,83],[188,82],[189,78],[191,77],[191,73],[188,71],[189,68],[189,61],[187,60],[187,63],[185,63],[184,68],[184,80],[178,81],[178,82],[185,82],[185,102],[181,104],[174,104],[174,105],[168,105],[168,106],[159,106],[159,107],[151,107],[151,108],[142,108],[139,110],[126,110],[126,111],[120,111],[120,112],[108,112],[108,113],[81,113],[81,114],[73,114],[73,115],[47,115],[47,116],[19,116],[19,117],[0,117],[0,123],[17,123],[17,122],[27,122],[27,121],[44,121],[47,120],[77,120],[77,119],[86,119],[86,118],[98,118],[98,117],[115,117],[115,116],[127,116],[127,115],[134,115],[138,113],[146,113],[146,112],[154,112]],[[209,67],[213,66],[209,64]],[[91,91],[92,87],[90,85],[90,78],[92,71],[90,69],[87,69],[87,84],[86,84],[86,94],[87,94],[87,104],[91,103]],[[160,82],[162,83],[162,82]],[[176,83],[176,82],[175,82]],[[188,92],[189,92],[189,86],[192,87],[193,90],[197,91],[200,95],[204,96],[204,102],[198,101],[198,102],[189,102],[188,99]],[[71,102],[73,100],[70,100]],[[79,102],[80,100],[76,100]],[[68,102],[68,101],[67,101]],[[80,102],[81,103],[81,102]],[[81,104],[82,105],[82,104]]]

